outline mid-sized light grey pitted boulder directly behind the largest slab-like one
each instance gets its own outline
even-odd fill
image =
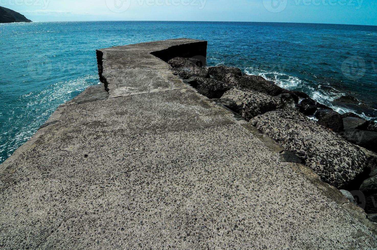
[[[252,90],[233,88],[225,92],[222,98],[234,100],[245,120],[280,107],[280,101],[272,96]]]

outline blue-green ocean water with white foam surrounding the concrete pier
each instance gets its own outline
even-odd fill
[[[240,67],[345,113],[377,120],[377,26],[232,22],[0,24],[0,163],[58,105],[99,82],[95,50],[169,38],[208,41],[208,65]],[[343,96],[342,101],[336,101]]]

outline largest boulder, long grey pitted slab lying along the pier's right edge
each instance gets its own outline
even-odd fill
[[[366,165],[365,153],[297,110],[277,109],[249,122],[283,148],[295,152],[323,181],[345,187]]]

